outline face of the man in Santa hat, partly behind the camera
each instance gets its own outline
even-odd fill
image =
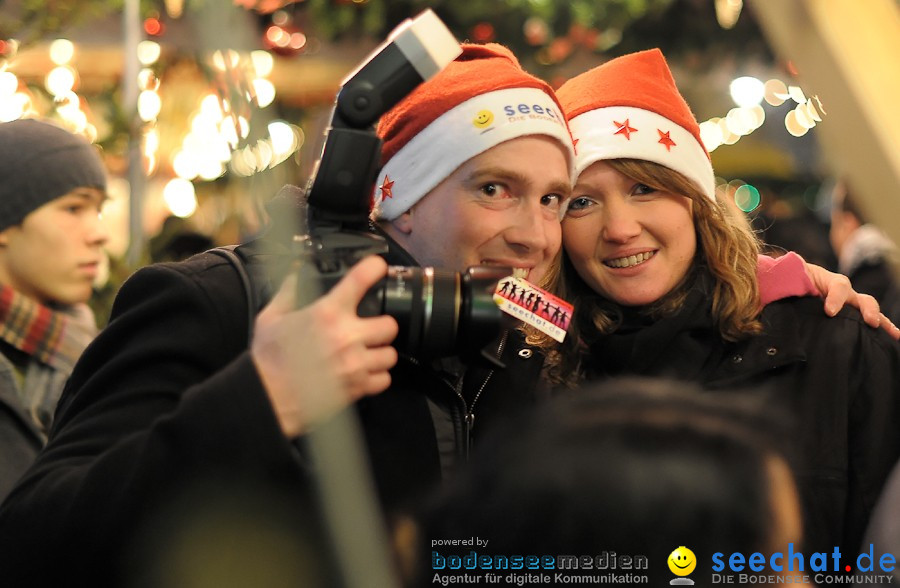
[[[569,192],[562,145],[519,137],[462,164],[389,232],[423,266],[506,265],[537,282],[559,252],[559,209]]]

